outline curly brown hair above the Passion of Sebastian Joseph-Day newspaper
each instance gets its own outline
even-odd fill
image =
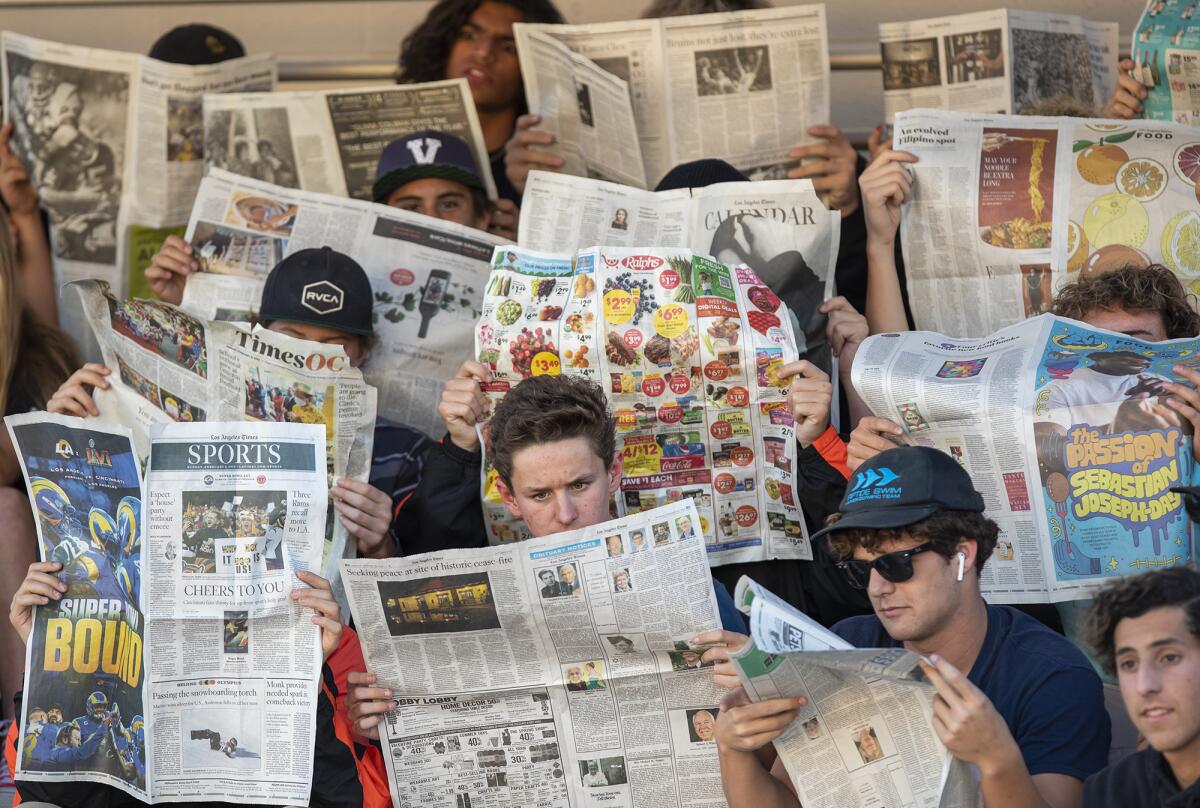
[[[1051,311],[1058,317],[1084,319],[1096,309],[1156,311],[1163,317],[1169,340],[1200,334],[1200,315],[1188,293],[1166,267],[1127,264],[1099,275],[1084,275],[1058,289]]]

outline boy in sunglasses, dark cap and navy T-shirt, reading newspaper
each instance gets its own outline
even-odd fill
[[[949,455],[902,447],[864,463],[841,511],[812,537],[828,537],[875,610],[834,632],[859,648],[904,647],[928,660],[934,730],[978,770],[989,808],[1074,808],[1108,758],[1100,681],[1066,639],[984,601],[979,574],[1000,528],[983,510]],[[782,764],[768,764],[763,747],[796,718],[798,700],[751,704],[736,690],[726,702],[716,741],[730,808],[797,806]]]

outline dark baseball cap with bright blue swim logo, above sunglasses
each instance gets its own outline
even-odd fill
[[[850,528],[906,527],[938,510],[983,513],[983,497],[966,469],[929,447],[896,447],[858,467],[846,483],[841,519],[812,538]]]

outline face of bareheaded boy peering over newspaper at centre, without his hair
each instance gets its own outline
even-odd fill
[[[512,455],[512,485],[499,483],[509,511],[535,538],[608,521],[620,484],[620,455],[605,463],[587,438],[526,447]]]

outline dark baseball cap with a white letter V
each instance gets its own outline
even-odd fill
[[[479,164],[462,138],[425,130],[389,143],[379,155],[371,194],[386,202],[392,191],[413,180],[438,179],[484,190]]]

